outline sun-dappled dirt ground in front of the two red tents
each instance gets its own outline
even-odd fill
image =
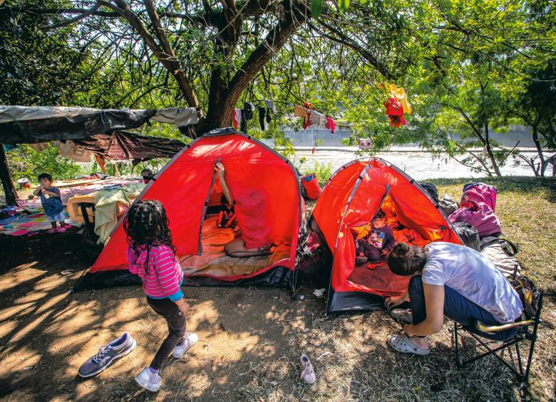
[[[460,189],[459,185],[447,189],[456,187]],[[548,231],[541,236],[553,236],[553,194],[532,192],[520,201],[516,194],[522,191],[515,191],[501,191],[500,215],[539,200],[546,208],[542,231]],[[519,230],[525,239],[539,236],[538,225],[524,226],[509,218],[506,225],[510,234]],[[148,307],[140,287],[70,294],[88,267],[79,258],[75,233],[29,239],[4,236],[0,244],[0,401],[520,398],[519,384],[494,358],[463,369],[456,366],[451,324],[431,338],[433,350],[428,356],[396,354],[385,340],[400,327],[385,313],[326,317],[324,298],[312,295],[309,286],[297,292],[304,300],[292,300],[289,291],[281,289],[185,287],[192,305],[187,323],[200,340],[186,356],[165,367],[158,393],[141,391],[133,376],[149,364],[166,328]],[[545,261],[551,265],[545,271],[535,270],[535,275],[542,277],[540,282],[552,296],[545,299],[545,324],[540,328],[528,397],[545,401],[555,397],[556,379],[555,251],[552,243],[547,244]],[[535,250],[528,247],[522,250],[522,259],[535,261],[529,257]],[[83,361],[123,332],[133,335],[137,349],[98,376],[79,379],[76,374]],[[475,351],[475,342],[468,338],[466,350]],[[299,379],[303,352],[315,366],[317,381],[312,386]]]

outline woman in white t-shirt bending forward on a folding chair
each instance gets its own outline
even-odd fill
[[[477,321],[487,325],[515,322],[523,305],[504,275],[477,251],[453,243],[434,242],[425,248],[398,243],[388,255],[388,268],[396,275],[411,276],[404,295],[386,298],[388,309],[409,297],[411,311],[394,310],[402,322],[401,334],[388,335],[388,346],[402,353],[426,355],[427,337],[440,332],[444,315],[473,328]],[[490,336],[512,337],[515,329]]]

